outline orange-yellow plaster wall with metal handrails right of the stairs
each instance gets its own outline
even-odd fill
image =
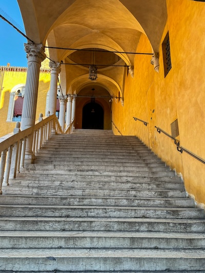
[[[180,145],[205,159],[205,5],[190,0],[167,0],[168,20],[161,44],[169,31],[172,69],[164,76],[162,48],[159,47],[159,74],[150,65],[149,55],[136,55],[134,78],[125,81],[124,107],[112,104],[112,119],[123,135],[136,135],[177,173],[187,192],[205,203],[205,165],[190,155],[179,153],[171,135],[177,118]],[[142,34],[137,52],[151,52]],[[146,127],[133,117],[149,122]],[[117,134],[116,129],[113,131]]]

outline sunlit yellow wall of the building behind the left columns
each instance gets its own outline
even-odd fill
[[[0,137],[13,132],[16,122],[7,122],[9,98],[11,90],[19,84],[26,83],[26,72],[4,71],[4,80],[2,82],[2,92],[0,96]],[[46,96],[50,85],[50,73],[40,73],[38,86],[38,99],[36,108],[36,120],[40,113],[45,114]]]

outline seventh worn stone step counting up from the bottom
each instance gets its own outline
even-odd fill
[[[118,189],[139,189],[139,190],[184,190],[182,182],[96,182],[96,181],[51,181],[51,180],[31,180],[31,179],[10,179],[10,185],[24,187],[71,187],[71,188],[118,188]]]

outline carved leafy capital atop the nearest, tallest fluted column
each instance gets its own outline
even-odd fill
[[[24,44],[25,51],[27,53],[27,59],[29,61],[36,61],[40,64],[46,58],[45,49],[43,44]]]

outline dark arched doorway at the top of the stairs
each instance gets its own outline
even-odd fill
[[[96,102],[90,102],[83,108],[83,129],[104,129],[104,111]]]

